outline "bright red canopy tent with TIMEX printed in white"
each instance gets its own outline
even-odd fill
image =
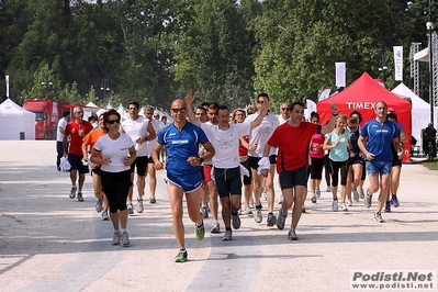
[[[404,161],[411,159],[411,102],[403,100],[379,85],[367,72],[362,74],[355,82],[348,86],[339,93],[330,98],[319,101],[317,110],[321,115],[321,123],[325,124],[332,116],[330,104],[336,103],[339,106],[339,113],[350,115],[351,112],[358,111],[362,115],[362,123],[375,117],[375,103],[384,101],[388,108],[393,108],[397,114],[398,122],[403,124],[408,141],[405,143],[406,149],[409,151],[405,156]]]

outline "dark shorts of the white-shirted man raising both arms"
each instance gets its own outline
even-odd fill
[[[214,179],[220,198],[231,194],[242,195],[240,169],[238,167],[214,168]]]

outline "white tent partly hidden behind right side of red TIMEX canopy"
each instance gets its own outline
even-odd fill
[[[422,128],[427,127],[430,123],[430,105],[417,94],[415,94],[411,89],[408,89],[404,83],[400,83],[391,92],[397,94],[402,99],[409,99],[412,102],[412,135],[419,142],[417,145],[422,146]],[[397,110],[395,109],[395,113]],[[434,124],[437,125],[438,121],[438,110],[434,110]]]

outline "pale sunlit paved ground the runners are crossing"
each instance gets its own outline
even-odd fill
[[[94,211],[89,177],[86,202],[68,198],[54,142],[2,141],[0,149],[1,291],[348,291],[352,270],[437,270],[438,172],[418,164],[403,166],[401,206],[384,224],[373,221],[374,204],[332,212],[326,192],[307,200],[297,242],[245,215],[232,242],[214,234],[198,242],[186,214],[190,260],[175,263],[165,172],[157,204],[130,216],[132,246],[122,248]]]

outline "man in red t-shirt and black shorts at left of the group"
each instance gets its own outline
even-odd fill
[[[63,148],[64,156],[67,155],[67,139],[70,136],[70,146],[68,148],[68,162],[70,162],[70,180],[71,180],[71,191],[70,199],[75,199],[76,191],[78,188],[76,187],[76,180],[79,170],[79,191],[78,191],[78,201],[83,202],[82,196],[82,187],[86,181],[86,173],[89,172],[88,165],[85,166],[82,164],[82,138],[92,130],[92,125],[83,121],[83,110],[80,106],[76,106],[74,109],[72,121],[67,124],[64,134]]]

